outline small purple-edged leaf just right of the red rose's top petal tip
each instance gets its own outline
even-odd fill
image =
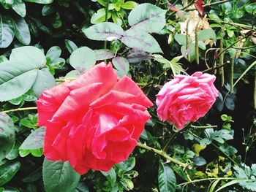
[[[129,72],[129,62],[126,58],[116,57],[112,60],[113,66],[115,66],[117,70],[118,77],[124,77]]]

